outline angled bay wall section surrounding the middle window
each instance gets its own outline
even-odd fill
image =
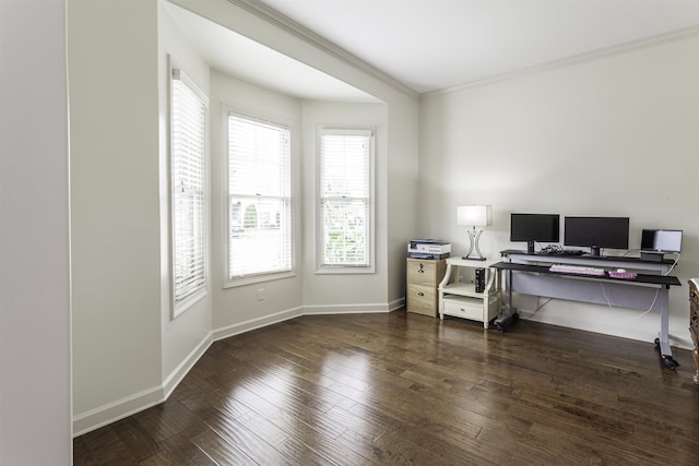
[[[292,177],[295,195],[304,190],[299,177],[301,131],[300,101],[223,73],[211,72],[211,141],[212,141],[212,211],[213,211],[213,328],[216,337],[236,334],[271,322],[299,315],[301,312],[300,203],[293,205],[294,241],[297,274],[271,282],[224,288],[224,222],[227,210],[224,199],[226,166],[227,111],[240,111],[286,124],[292,130]],[[258,289],[264,300],[257,299]]]

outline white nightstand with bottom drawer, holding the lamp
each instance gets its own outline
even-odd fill
[[[497,261],[471,261],[461,258],[447,259],[447,272],[438,287],[439,318],[452,315],[488,323],[500,314],[500,274],[490,265]],[[476,270],[483,268],[484,287],[476,290]]]

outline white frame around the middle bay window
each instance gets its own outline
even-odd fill
[[[232,218],[230,218],[230,199],[232,199],[232,192],[230,192],[230,176],[229,176],[229,171],[230,171],[230,133],[229,133],[229,118],[230,116],[236,116],[238,118],[245,118],[245,119],[249,119],[250,121],[258,121],[261,122],[263,124],[269,124],[272,127],[279,127],[279,128],[283,128],[285,130],[288,131],[288,138],[289,138],[289,142],[288,142],[288,170],[287,170],[287,176],[288,176],[288,195],[287,198],[284,196],[279,196],[279,199],[286,199],[286,203],[287,203],[287,212],[288,212],[288,222],[286,222],[286,225],[288,227],[288,231],[286,232],[287,235],[287,240],[288,240],[288,247],[289,247],[289,266],[288,270],[281,270],[281,271],[268,271],[268,272],[256,272],[256,273],[250,273],[250,274],[246,274],[246,275],[238,275],[238,276],[232,276],[232,270],[230,270],[230,239],[232,239],[232,231],[230,231],[230,226],[232,226]],[[239,287],[239,286],[245,286],[245,285],[250,285],[250,284],[256,284],[256,283],[263,283],[263,282],[271,282],[271,280],[276,280],[276,279],[282,279],[282,278],[288,278],[288,277],[294,277],[296,276],[296,242],[295,242],[295,225],[296,225],[296,213],[295,213],[295,184],[294,184],[294,145],[293,145],[293,139],[294,139],[294,128],[293,126],[285,120],[284,118],[279,118],[279,117],[270,117],[266,115],[263,115],[261,112],[253,112],[253,111],[248,111],[248,110],[242,110],[239,108],[235,108],[233,106],[228,106],[228,105],[223,105],[223,111],[222,111],[222,133],[223,133],[223,139],[224,139],[224,169],[222,170],[223,174],[223,227],[224,227],[224,231],[223,231],[223,246],[224,246],[224,260],[223,260],[223,268],[224,268],[224,275],[223,275],[223,287],[224,288],[235,288],[235,287]],[[263,198],[268,198],[268,196],[263,196]],[[274,198],[274,196],[270,196]]]

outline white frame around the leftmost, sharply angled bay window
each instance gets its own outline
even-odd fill
[[[201,212],[202,218],[200,219],[200,231],[198,237],[200,238],[200,244],[202,250],[200,251],[198,256],[201,256],[202,263],[202,277],[196,278],[197,280],[201,280],[193,290],[186,294],[181,299],[178,299],[178,289],[177,289],[177,280],[176,280],[176,272],[177,272],[177,231],[176,231],[176,213],[177,213],[177,203],[175,200],[175,189],[176,189],[176,180],[175,180],[175,82],[181,82],[191,94],[200,101],[203,107],[203,154],[202,154],[202,171],[201,178],[201,196],[202,196],[202,205]],[[210,224],[210,118],[209,118],[209,97],[197,85],[197,83],[191,80],[187,73],[182,71],[176,63],[171,62],[168,57],[168,200],[169,200],[169,238],[170,238],[170,265],[169,265],[169,275],[170,275],[170,309],[171,315],[170,319],[176,319],[177,316],[185,313],[187,310],[191,309],[197,302],[209,295],[209,286],[210,286],[210,260],[209,260],[209,224]],[[197,222],[197,220],[194,220]],[[196,227],[193,227],[196,228]]]

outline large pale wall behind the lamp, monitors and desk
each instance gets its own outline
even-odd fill
[[[458,205],[489,203],[481,249],[510,247],[511,212],[630,217],[684,229],[671,292],[671,343],[689,347],[687,287],[699,274],[699,38],[600,58],[420,100],[422,235],[465,252]],[[613,251],[609,251],[613,252]],[[532,310],[534,300],[520,306]],[[650,303],[649,303],[650,306]],[[657,314],[552,301],[535,319],[652,342]]]

